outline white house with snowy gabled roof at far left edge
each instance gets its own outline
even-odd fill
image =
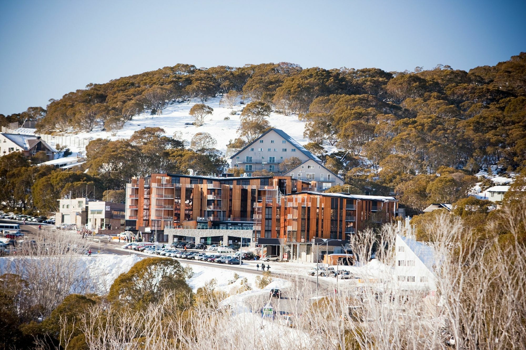
[[[25,157],[30,158],[39,151],[46,152],[49,160],[52,160],[55,157],[55,153],[58,152],[39,136],[0,133],[0,157],[6,156],[11,152],[22,152]]]

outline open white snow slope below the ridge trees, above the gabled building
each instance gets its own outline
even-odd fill
[[[119,130],[116,136],[112,136],[110,132],[102,131],[101,128],[95,129],[92,132],[77,133],[75,136],[79,138],[93,139],[128,139],[135,131],[144,127],[160,127],[166,131],[166,136],[172,137],[176,131],[180,131],[183,134],[183,139],[190,142],[191,138],[197,132],[208,132],[217,140],[216,148],[225,152],[229,140],[234,139],[239,135],[237,128],[239,127],[240,111],[245,105],[238,104],[234,107],[234,110],[237,111],[238,114],[230,115],[230,112],[232,111],[230,108],[219,106],[220,99],[220,97],[216,97],[205,102],[205,105],[214,109],[214,113],[213,115],[208,116],[205,119],[205,125],[200,127],[185,125],[185,123],[191,123],[194,121],[194,118],[189,115],[190,108],[195,104],[201,103],[199,99],[193,99],[189,104],[188,102],[184,102],[168,105],[168,107],[163,110],[163,114],[159,116],[150,116],[146,113],[135,116],[133,120],[126,122],[124,128]],[[225,120],[226,117],[230,119]],[[301,145],[305,145],[309,142],[308,139],[303,137],[305,124],[298,120],[296,115],[284,116],[272,113],[268,120],[272,127],[285,131]]]

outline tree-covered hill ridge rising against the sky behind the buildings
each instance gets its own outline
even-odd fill
[[[46,110],[30,108],[0,120],[34,119],[42,132],[115,128],[143,112],[161,114],[170,101],[206,103],[228,92],[298,115],[306,122],[311,149],[322,152],[317,145],[330,143],[351,156],[347,160],[366,157],[373,171],[525,165],[526,53],[469,72],[447,65],[386,72],[290,63],[208,69],[177,64],[89,84],[50,100]]]

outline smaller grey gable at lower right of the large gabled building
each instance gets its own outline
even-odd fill
[[[333,173],[313,159],[308,159],[296,168],[289,170],[286,175],[298,180],[316,181],[317,191],[325,191],[332,186],[343,185],[345,182],[338,174]]]

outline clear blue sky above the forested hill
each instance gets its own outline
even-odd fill
[[[387,71],[526,51],[523,1],[0,2],[0,113],[177,63]]]

